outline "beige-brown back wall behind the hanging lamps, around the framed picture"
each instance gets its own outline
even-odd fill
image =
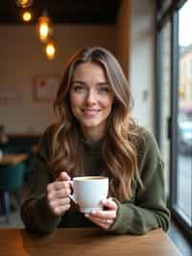
[[[114,26],[55,25],[54,29],[59,52],[56,60],[47,61],[35,26],[0,26],[0,123],[8,133],[39,134],[55,120],[52,102],[33,98],[36,74],[60,76],[63,63],[87,45],[104,46],[115,54]]]

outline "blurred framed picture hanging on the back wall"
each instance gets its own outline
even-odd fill
[[[60,75],[38,74],[33,78],[33,94],[36,101],[54,101],[60,86]]]

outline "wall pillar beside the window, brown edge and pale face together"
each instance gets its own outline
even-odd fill
[[[155,1],[122,0],[117,30],[117,58],[129,79],[140,125],[154,130]]]

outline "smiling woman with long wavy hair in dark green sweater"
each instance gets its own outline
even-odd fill
[[[169,226],[163,163],[153,135],[132,119],[132,95],[120,64],[104,48],[70,59],[54,104],[56,124],[36,155],[34,185],[21,217],[31,231],[100,226],[118,234],[143,234]],[[69,180],[106,175],[103,211],[81,214],[69,199]]]

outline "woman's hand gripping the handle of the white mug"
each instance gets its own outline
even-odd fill
[[[67,172],[60,172],[60,176],[54,181],[47,185],[46,198],[51,212],[55,216],[62,215],[65,211],[70,208],[69,194],[71,192]]]

